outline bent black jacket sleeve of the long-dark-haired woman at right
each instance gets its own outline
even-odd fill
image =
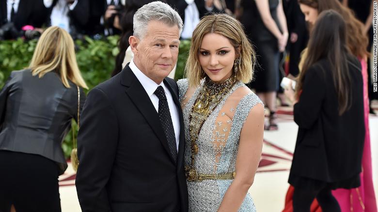
[[[321,75],[320,65],[312,66],[307,70],[302,93],[298,103],[294,105],[294,121],[300,128],[311,128],[320,115],[326,91],[324,78]]]

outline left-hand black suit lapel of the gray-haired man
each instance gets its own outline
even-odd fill
[[[159,121],[159,116],[150,100],[150,97],[147,95],[147,92],[144,90],[142,84],[139,82],[138,78],[134,75],[128,65],[126,65],[124,70],[121,72],[121,75],[121,84],[128,87],[126,89],[126,94],[139,109],[144,119],[151,126],[152,130],[155,132],[156,136],[161,142],[161,145],[163,145],[164,149],[167,151],[173,161],[171,151],[168,147],[167,137],[165,136],[164,130]]]

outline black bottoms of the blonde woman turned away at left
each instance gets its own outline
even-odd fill
[[[61,212],[58,166],[36,154],[0,151],[0,212]]]

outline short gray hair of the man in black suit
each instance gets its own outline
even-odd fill
[[[135,13],[133,18],[134,36],[142,39],[146,35],[148,23],[153,20],[161,21],[169,26],[177,26],[179,35],[181,35],[183,23],[180,15],[168,4],[153,1],[143,5]]]

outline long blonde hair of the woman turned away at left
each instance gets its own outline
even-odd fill
[[[76,62],[75,45],[67,31],[59,27],[49,27],[38,40],[29,68],[33,76],[39,78],[54,71],[66,88],[68,80],[88,89]]]

